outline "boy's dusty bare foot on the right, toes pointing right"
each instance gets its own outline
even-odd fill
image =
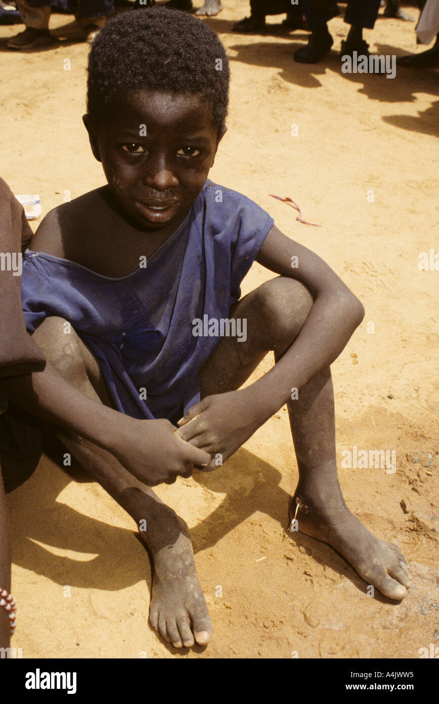
[[[294,516],[296,498],[305,506],[298,510],[298,529],[301,533],[328,543],[343,555],[367,584],[376,587],[384,596],[400,601],[407,596],[410,585],[407,560],[400,548],[375,538],[341,501],[310,501],[296,489],[290,507]],[[306,512],[306,513],[305,513]]]

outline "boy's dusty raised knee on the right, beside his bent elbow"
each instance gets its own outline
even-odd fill
[[[310,291],[296,279],[279,276],[262,284],[258,294],[272,349],[291,344],[314,303]]]

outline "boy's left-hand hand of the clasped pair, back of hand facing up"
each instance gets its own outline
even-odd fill
[[[169,420],[136,420],[120,414],[118,434],[110,452],[134,477],[148,486],[173,484],[191,477],[193,465],[208,465],[210,455],[182,440]]]

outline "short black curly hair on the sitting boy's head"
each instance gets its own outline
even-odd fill
[[[99,124],[117,92],[141,88],[202,94],[220,132],[229,102],[229,62],[217,34],[192,15],[158,6],[109,20],[89,54],[87,111]]]

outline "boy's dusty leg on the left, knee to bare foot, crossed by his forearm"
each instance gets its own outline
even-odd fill
[[[58,373],[83,394],[110,406],[98,361],[74,330],[63,333],[62,318],[46,318],[32,335]],[[68,403],[68,399],[60,399]],[[212,622],[196,574],[187,526],[145,484],[111,455],[77,435],[54,429],[72,455],[90,472],[139,526],[153,557],[150,622],[179,648],[210,641]]]

